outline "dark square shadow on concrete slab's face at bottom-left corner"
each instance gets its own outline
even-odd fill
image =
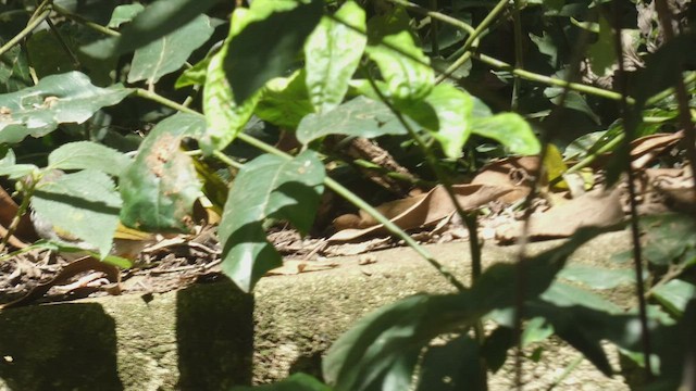
[[[115,323],[101,305],[54,304],[40,310],[0,312],[0,388],[123,390]]]

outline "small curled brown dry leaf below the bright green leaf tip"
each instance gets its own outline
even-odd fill
[[[538,171],[538,156],[502,159],[484,166],[471,182],[511,188],[512,190],[499,200],[514,203],[530,193],[533,182],[531,175]]]

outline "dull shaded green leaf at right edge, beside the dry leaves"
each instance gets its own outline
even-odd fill
[[[654,265],[680,262],[687,250],[696,248],[696,224],[689,215],[645,216],[641,230],[645,237],[643,254]]]

